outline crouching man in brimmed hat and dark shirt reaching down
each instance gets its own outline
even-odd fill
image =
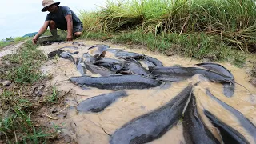
[[[78,38],[82,34],[82,22],[74,14],[68,6],[58,6],[60,2],[54,2],[53,0],[43,0],[42,1],[42,12],[49,11],[50,13],[46,16],[46,21],[44,22],[41,29],[38,31],[33,38],[33,43],[38,42],[38,38],[50,28],[50,33],[55,36],[57,35],[57,28],[61,30],[67,30],[67,41],[72,41],[73,38]]]

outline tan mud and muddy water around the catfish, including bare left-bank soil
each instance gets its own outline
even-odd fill
[[[6,46],[0,51],[0,73],[6,73],[12,66],[16,66],[16,64],[3,61],[1,56],[12,54],[22,45],[22,43],[23,42],[20,42],[17,45]],[[82,44],[85,44],[85,46]],[[158,58],[164,66],[194,66],[194,64],[198,63],[198,61],[191,60],[190,58],[182,58],[173,54],[166,56],[164,54],[158,54],[157,52],[150,52],[143,46],[129,47],[100,41],[83,41],[75,42],[74,44],[72,44],[72,42],[59,42],[50,46],[41,46],[38,49],[42,50],[43,53],[47,55],[51,51],[64,46],[76,46],[78,47],[78,50],[70,48],[65,48],[64,50],[70,52],[79,51],[79,54],[73,55],[74,58],[78,58],[82,57],[83,53],[93,53],[93,50],[89,51],[87,48],[94,44],[106,44],[111,48],[120,48],[125,49],[126,51],[150,55],[151,57]],[[107,53],[106,57],[112,58],[114,57],[114,54]],[[129,94],[128,97],[118,99],[117,102],[108,106],[101,113],[79,113],[76,110],[78,103],[86,98],[91,98],[98,94],[106,94],[112,90],[98,90],[96,88],[82,90],[80,87],[75,86],[68,81],[68,78],[70,77],[80,76],[74,63],[56,57],[48,60],[42,66],[41,71],[47,76],[39,82],[26,85],[22,87],[22,89],[14,82],[11,83],[10,86],[2,86],[0,84],[0,93],[2,90],[10,90],[16,91],[15,95],[22,95],[22,97],[15,97],[16,99],[12,101],[8,98],[2,98],[2,101],[0,102],[0,115],[4,115],[5,111],[8,110],[10,106],[15,106],[19,99],[29,99],[30,103],[33,104],[30,106],[30,109],[33,111],[31,118],[37,128],[47,129],[52,132],[51,130],[53,130],[53,126],[58,126],[58,136],[52,136],[50,141],[54,143],[108,143],[110,136],[106,133],[113,134],[115,130],[126,122],[129,122],[131,119],[149,113],[159,106],[163,106],[185,88],[188,83],[201,81],[198,86],[194,87],[194,94],[198,103],[198,111],[214,135],[219,138],[216,128],[214,128],[206,116],[202,114],[202,109],[209,110],[214,115],[217,115],[222,122],[234,127],[251,143],[254,143],[250,134],[247,134],[246,130],[240,126],[238,120],[234,118],[234,115],[230,114],[229,111],[225,110],[222,106],[218,105],[217,102],[206,95],[205,88],[209,87],[211,93],[217,98],[242,112],[246,118],[250,119],[250,121],[256,125],[256,89],[249,82],[253,79],[250,74],[253,75],[255,73],[255,62],[249,62],[246,68],[243,69],[232,66],[228,62],[219,64],[230,70],[230,72],[234,74],[235,81],[245,86],[252,94],[242,86],[236,85],[234,97],[226,98],[222,94],[222,85],[203,81],[199,76],[195,76],[184,82],[173,82],[170,88],[166,89],[162,89],[159,86],[145,90],[126,90],[127,94]],[[99,76],[98,74],[92,75]],[[0,81],[2,82],[3,80],[0,79]],[[58,100],[55,102],[46,102],[47,98],[52,95],[54,86],[57,88]],[[184,143],[182,122],[178,122],[177,126],[171,128],[161,138],[150,143],[170,143],[170,139],[172,143]],[[2,143],[1,140],[0,143]]]

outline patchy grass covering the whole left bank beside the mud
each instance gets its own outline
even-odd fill
[[[46,56],[31,41],[26,41],[16,54],[6,55],[4,61],[9,65],[1,66],[0,79],[10,80],[11,86],[0,94],[0,143],[44,143],[54,138],[57,130],[53,127],[35,126],[31,117],[38,106],[48,103],[44,98],[31,95],[33,86],[42,83],[38,70]],[[49,102],[58,101],[58,91],[52,88]]]

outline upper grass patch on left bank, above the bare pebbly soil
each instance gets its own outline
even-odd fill
[[[46,56],[36,47],[31,41],[27,41],[17,54],[6,55],[4,59],[16,65],[11,66],[10,73],[3,74],[2,77],[17,83],[31,83],[41,78],[38,68],[46,60]]]

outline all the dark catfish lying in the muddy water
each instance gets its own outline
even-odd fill
[[[59,49],[48,54],[49,58],[58,55],[73,62],[82,74],[71,77],[70,82],[87,90],[90,87],[114,90],[113,93],[101,94],[79,103],[77,110],[84,113],[98,113],[110,106],[118,98],[127,97],[127,89],[149,89],[168,82],[181,82],[200,74],[210,82],[218,82],[223,86],[223,94],[230,98],[234,95],[234,76],[225,67],[216,63],[198,63],[194,67],[163,66],[156,58],[112,49],[106,45],[95,45],[88,48],[92,54],[83,54],[82,58],[74,59],[70,53]],[[106,53],[114,54],[115,58],[106,58]],[[90,73],[100,74],[91,77]],[[182,118],[183,135],[186,143],[250,143],[237,130],[222,122],[208,110],[203,110],[210,122],[219,130],[222,142],[206,127],[198,114],[193,87],[190,83],[182,92],[156,110],[134,118],[110,135],[110,143],[139,144],[152,142],[166,134]],[[238,110],[220,101],[209,89],[206,94],[221,106],[234,114],[244,129],[256,142],[256,126]]]

